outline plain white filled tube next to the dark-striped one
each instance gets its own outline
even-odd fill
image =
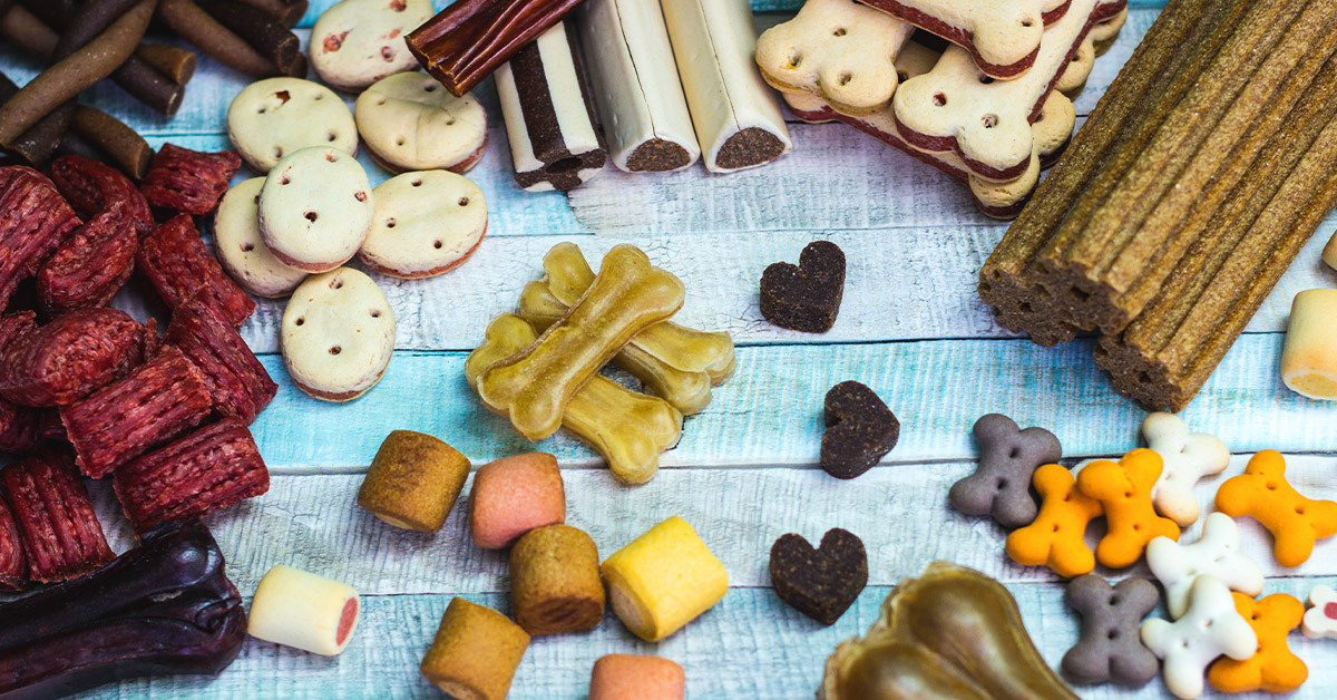
[[[663,173],[695,163],[701,146],[659,3],[590,0],[578,16],[612,165],[627,173]]]

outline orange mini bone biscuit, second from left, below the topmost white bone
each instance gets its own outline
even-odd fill
[[[1104,507],[1108,531],[1095,547],[1095,558],[1111,569],[1132,566],[1147,542],[1157,537],[1179,539],[1179,526],[1157,515],[1151,489],[1165,463],[1152,450],[1134,450],[1118,463],[1098,459],[1078,474],[1078,489]]]

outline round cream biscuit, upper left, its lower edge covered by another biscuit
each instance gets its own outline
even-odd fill
[[[227,138],[259,174],[312,146],[357,155],[357,124],[348,104],[333,90],[301,78],[269,78],[246,86],[227,108]]]

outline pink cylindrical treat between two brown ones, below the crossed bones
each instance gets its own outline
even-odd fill
[[[469,531],[483,549],[503,549],[524,533],[563,523],[567,497],[558,458],[547,452],[504,456],[473,475]]]

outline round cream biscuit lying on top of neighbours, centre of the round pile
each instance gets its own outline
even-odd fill
[[[374,214],[366,171],[334,149],[285,157],[259,190],[259,234],[279,262],[299,270],[326,272],[348,262]]]

